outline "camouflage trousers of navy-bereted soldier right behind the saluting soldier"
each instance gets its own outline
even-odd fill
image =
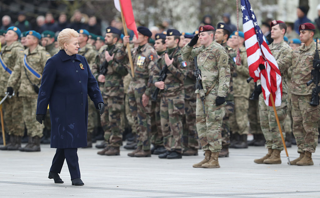
[[[222,130],[221,130],[221,136],[222,136],[222,147],[228,146],[230,144],[230,116],[232,116],[235,103],[233,100],[226,101],[227,104],[225,106],[225,115],[222,120]]]

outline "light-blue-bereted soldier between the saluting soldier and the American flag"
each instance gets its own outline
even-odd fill
[[[232,37],[237,37],[238,32],[233,32]],[[236,66],[236,75],[233,78],[233,93],[235,101],[234,113],[230,117],[230,126],[232,131],[231,148],[248,148],[247,135],[248,126],[248,108],[250,87],[246,82],[249,77],[249,68],[247,63],[247,53],[243,46],[244,33],[239,31],[239,48],[241,65]]]

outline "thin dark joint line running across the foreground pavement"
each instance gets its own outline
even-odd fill
[[[30,185],[30,186],[48,186],[48,187],[76,187],[65,186],[56,184],[39,184],[29,182],[12,182],[12,181],[0,181],[2,184],[17,184],[17,185]],[[181,194],[174,197],[194,197],[194,196],[218,196],[218,197],[242,197],[244,195],[268,195],[268,194],[301,194],[301,193],[320,193],[320,190],[315,191],[287,191],[287,192],[265,192],[265,193],[230,193],[230,194],[210,194],[210,193],[188,193],[188,192],[176,192],[176,191],[160,191],[160,190],[143,190],[143,189],[129,189],[129,188],[107,188],[107,187],[95,187],[95,186],[81,186],[79,188],[95,189],[95,190],[116,190],[116,191],[133,191],[133,192],[146,192],[146,193],[163,193],[163,194]],[[182,196],[183,194],[183,196]],[[153,197],[153,196],[150,196]],[[155,196],[158,198],[166,198],[169,196]],[[172,197],[172,196],[170,196]],[[138,198],[138,197],[137,197]],[[254,198],[254,197],[250,197]]]

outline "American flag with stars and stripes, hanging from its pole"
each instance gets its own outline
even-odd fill
[[[249,74],[254,82],[260,79],[266,105],[272,106],[270,99],[270,93],[272,93],[275,106],[280,106],[282,83],[276,59],[271,54],[248,0],[241,0],[241,11]],[[260,70],[260,64],[263,64],[266,69]]]

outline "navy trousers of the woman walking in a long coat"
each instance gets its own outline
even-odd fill
[[[66,159],[71,179],[80,178],[81,176],[77,151],[77,148],[57,148],[56,154],[52,160],[50,171],[60,174],[64,159]]]

